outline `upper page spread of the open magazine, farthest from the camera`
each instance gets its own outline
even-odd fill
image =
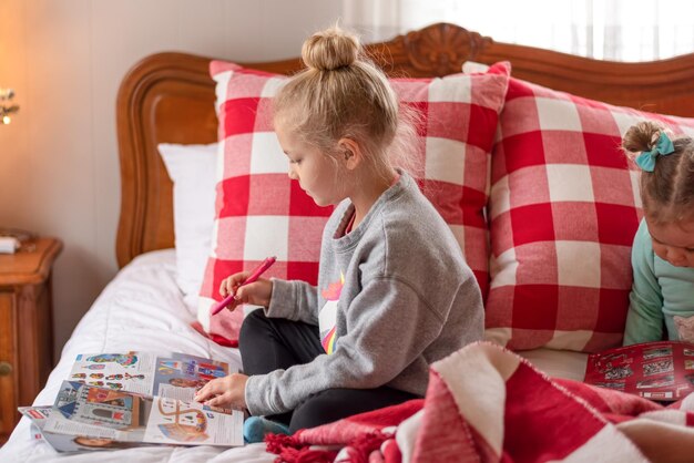
[[[135,392],[192,401],[207,381],[229,373],[225,362],[169,353],[82,353],[69,380],[114,391]]]

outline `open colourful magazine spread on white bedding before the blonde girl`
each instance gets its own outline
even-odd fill
[[[79,354],[52,407],[20,408],[57,451],[243,445],[243,413],[194,401],[225,362],[183,353]]]

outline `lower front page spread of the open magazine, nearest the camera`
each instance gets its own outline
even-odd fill
[[[44,430],[130,443],[243,445],[243,413],[63,381]]]

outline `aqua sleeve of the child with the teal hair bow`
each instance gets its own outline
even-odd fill
[[[654,254],[645,220],[632,248],[634,282],[629,295],[624,346],[660,341],[663,337],[663,295],[654,271]]]

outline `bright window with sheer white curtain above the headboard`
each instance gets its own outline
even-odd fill
[[[343,24],[369,42],[435,22],[599,60],[653,61],[694,52],[692,0],[343,0]]]

